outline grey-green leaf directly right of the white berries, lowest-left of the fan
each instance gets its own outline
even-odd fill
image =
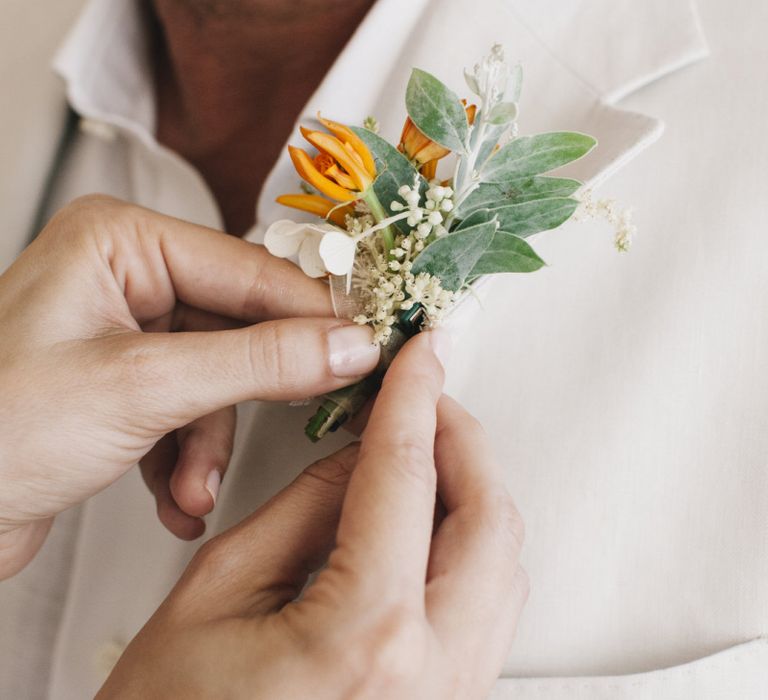
[[[444,289],[462,287],[472,269],[483,256],[496,233],[496,223],[472,226],[430,243],[416,258],[411,272],[428,272],[440,279]]]

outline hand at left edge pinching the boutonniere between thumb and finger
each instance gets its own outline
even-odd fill
[[[0,277],[0,578],[142,458],[160,519],[202,534],[228,407],[376,365],[370,330],[331,315],[327,287],[261,246],[106,197],[56,215]]]

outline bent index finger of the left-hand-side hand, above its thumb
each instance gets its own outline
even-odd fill
[[[82,205],[104,208],[116,226],[99,231],[128,306],[139,323],[177,301],[245,321],[332,316],[328,288],[260,245],[221,231],[106,197]]]

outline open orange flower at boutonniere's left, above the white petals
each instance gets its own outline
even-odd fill
[[[312,158],[303,149],[289,146],[296,172],[332,200],[351,202],[359,199],[376,177],[371,152],[349,127],[323,119],[319,114],[318,119],[331,133],[301,127],[304,138],[319,153]],[[310,206],[309,201],[300,201]],[[318,204],[313,201],[311,206]]]

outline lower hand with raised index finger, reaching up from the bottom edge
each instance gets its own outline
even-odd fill
[[[440,398],[434,338],[399,353],[359,448],[203,545],[98,698],[486,697],[527,596],[522,524]]]

